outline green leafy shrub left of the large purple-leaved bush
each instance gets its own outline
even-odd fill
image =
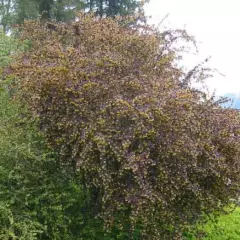
[[[82,239],[90,226],[86,237],[101,233],[101,222],[83,211],[87,194],[79,178],[56,165],[57,155],[9,88],[1,83],[0,239]]]

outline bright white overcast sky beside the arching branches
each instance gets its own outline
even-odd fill
[[[211,56],[210,66],[221,74],[206,81],[210,92],[240,97],[240,0],[150,0],[145,11],[150,23],[169,14],[162,25],[195,36],[199,54],[187,56],[186,65]]]

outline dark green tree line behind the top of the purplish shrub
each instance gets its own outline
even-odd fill
[[[24,20],[41,19],[68,22],[75,12],[93,12],[104,17],[124,16],[143,11],[141,0],[1,0],[0,25],[6,33]]]

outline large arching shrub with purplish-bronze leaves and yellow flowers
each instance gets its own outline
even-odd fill
[[[177,66],[184,31],[80,15],[20,34],[31,49],[7,73],[107,228],[127,221],[142,239],[180,239],[237,197],[239,115],[191,88],[204,68]]]

